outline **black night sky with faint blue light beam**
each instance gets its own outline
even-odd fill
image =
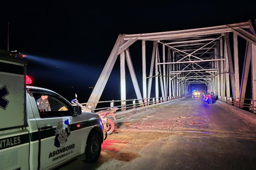
[[[154,5],[130,1],[114,5],[108,3],[111,1],[24,2],[1,2],[0,49],[7,50],[10,22],[9,50],[28,55],[25,60],[32,85],[56,91],[69,101],[77,93],[80,102],[87,102],[93,90],[89,87],[95,86],[118,34],[184,30],[256,19],[256,3],[247,1]],[[152,47],[153,42],[147,41],[147,76]],[[130,47],[130,54],[142,92],[141,41]],[[120,100],[119,60],[100,101]],[[126,88],[126,98],[136,98],[128,68]],[[154,94],[154,86],[151,93]]]

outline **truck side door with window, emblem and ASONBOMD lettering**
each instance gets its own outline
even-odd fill
[[[81,141],[75,134],[71,135],[72,106],[60,96],[45,94],[44,92],[30,93],[34,100],[31,104],[45,104],[45,108],[33,110],[38,126],[38,132],[31,135],[31,140],[39,142],[40,169],[52,168],[65,160],[78,156],[81,148]],[[42,101],[42,96],[47,95],[47,100]],[[41,98],[41,99],[40,99]],[[40,99],[40,100],[38,100]],[[41,103],[43,102],[43,103]],[[50,109],[48,107],[50,106]],[[48,110],[48,111],[47,111]]]

